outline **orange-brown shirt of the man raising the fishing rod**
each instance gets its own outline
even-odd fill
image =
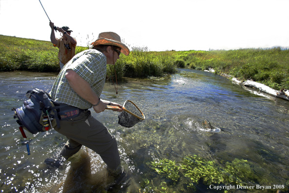
[[[66,64],[75,55],[76,43],[72,44],[68,39],[64,40],[62,38],[56,40],[57,44],[53,45],[59,49],[58,58],[63,64]],[[66,49],[65,44],[68,44],[71,50]]]

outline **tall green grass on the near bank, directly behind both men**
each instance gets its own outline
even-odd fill
[[[76,46],[75,54],[88,49]],[[0,71],[28,70],[38,72],[58,72],[58,48],[50,41],[22,39],[0,35]],[[116,72],[114,71],[114,68]],[[125,77],[163,76],[175,73],[176,66],[169,52],[147,52],[134,48],[126,57],[123,54],[116,65],[108,65],[107,76],[117,74],[118,79]]]

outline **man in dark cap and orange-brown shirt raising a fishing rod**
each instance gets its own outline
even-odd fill
[[[54,23],[49,23],[51,27],[50,40],[53,43],[54,47],[56,46],[59,49],[58,58],[60,69],[75,55],[76,40],[71,37],[72,30],[67,26],[62,28],[57,27],[57,30],[62,33],[61,39],[56,39],[54,34]]]

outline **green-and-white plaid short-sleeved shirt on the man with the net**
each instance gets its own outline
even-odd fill
[[[90,49],[75,55],[60,71],[51,90],[53,100],[77,107],[89,109],[92,104],[76,94],[65,77],[71,69],[90,83],[91,89],[100,97],[107,74],[107,58],[101,52]]]

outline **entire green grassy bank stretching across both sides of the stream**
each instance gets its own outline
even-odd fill
[[[76,47],[76,53],[87,49]],[[27,70],[58,72],[58,49],[49,41],[0,35],[0,71]],[[289,89],[289,49],[239,49],[217,51],[148,52],[134,48],[108,65],[108,77],[160,77],[177,72],[177,67],[197,70],[213,68],[241,80],[253,79],[276,90]]]

